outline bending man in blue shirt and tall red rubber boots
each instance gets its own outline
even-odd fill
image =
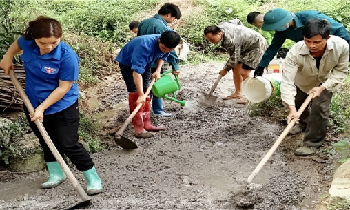
[[[146,96],[145,92],[150,85],[150,78],[155,78],[156,81],[160,78],[164,61],[179,42],[180,35],[174,31],[137,36],[124,45],[116,56],[129,92],[130,113],[139,103],[143,103],[143,107],[132,119],[136,138],[150,138],[153,134],[147,131],[165,129],[165,127],[156,127],[151,124],[150,95]],[[155,61],[157,61],[157,67],[152,73],[151,67]]]

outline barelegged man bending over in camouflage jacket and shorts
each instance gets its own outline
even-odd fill
[[[242,93],[242,82],[250,76],[251,70],[258,67],[267,42],[258,32],[243,25],[239,19],[225,21],[218,25],[208,26],[204,30],[205,39],[219,43],[229,53],[229,60],[219,74],[225,76],[229,70],[234,70],[235,92],[224,100],[240,98],[237,103],[245,104],[247,99]]]

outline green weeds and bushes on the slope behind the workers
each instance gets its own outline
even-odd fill
[[[99,76],[116,68],[116,65],[103,62],[104,54],[114,54],[116,48],[122,47],[132,39],[127,24],[133,20],[141,21],[145,17],[152,17],[165,2],[167,1],[3,0],[0,1],[0,23],[11,23],[12,28],[16,28],[15,31],[22,31],[28,21],[39,15],[59,20],[65,32],[63,41],[72,45],[81,60],[79,81],[96,83]],[[181,7],[180,2],[176,3]],[[183,63],[201,63],[213,58],[222,60],[223,58],[216,53],[220,50],[220,45],[212,45],[205,41],[203,29],[221,21],[239,18],[247,27],[258,30],[246,21],[247,14],[251,11],[267,12],[274,7],[282,7],[291,12],[316,9],[350,29],[350,11],[347,10],[345,1],[341,0],[325,1],[322,4],[318,0],[192,0],[185,3],[187,5],[181,7],[185,8],[182,10],[183,17],[175,29],[193,47],[187,61]],[[4,33],[1,28],[0,33]],[[67,37],[67,34],[72,36]],[[17,38],[17,34],[13,35]],[[70,40],[72,37],[79,39],[79,42]],[[292,43],[285,44],[285,47],[289,48]],[[3,52],[4,48],[7,49],[1,45],[0,52]]]

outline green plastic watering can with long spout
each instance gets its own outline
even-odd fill
[[[181,85],[178,82],[178,76],[175,75],[175,79],[172,76],[169,76],[169,74],[172,72],[172,70],[169,70],[167,72],[164,72],[161,74],[161,78],[156,81],[152,87],[152,93],[154,96],[157,96],[158,98],[165,98],[170,101],[175,101],[177,103],[180,103],[181,106],[185,106],[186,101],[180,101],[176,99],[175,92],[176,90],[180,90]],[[173,97],[167,96],[167,94],[172,94]]]

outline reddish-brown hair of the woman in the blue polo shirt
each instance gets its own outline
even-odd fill
[[[39,16],[34,21],[29,22],[28,28],[24,30],[24,36],[27,40],[34,40],[51,36],[61,38],[61,24],[59,21],[56,21],[50,17]]]

